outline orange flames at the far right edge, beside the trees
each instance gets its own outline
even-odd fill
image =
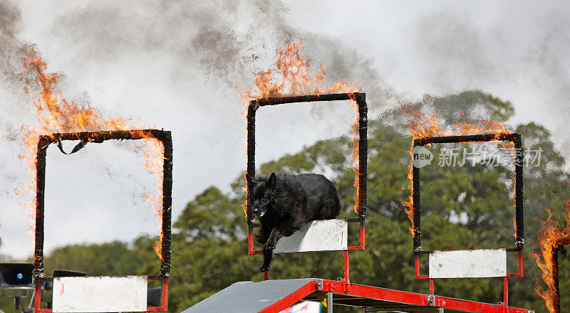
[[[548,212],[548,218],[546,221],[541,222],[541,229],[539,230],[539,246],[540,251],[533,251],[531,257],[537,261],[537,265],[542,270],[542,279],[546,283],[546,290],[536,283],[534,291],[544,299],[546,302],[546,308],[549,312],[555,312],[555,280],[556,280],[556,267],[554,264],[554,255],[556,251],[561,248],[562,245],[570,244],[570,201],[564,201],[566,205],[566,212],[568,213],[565,217],[566,226],[561,227],[556,221],[552,221],[552,212],[548,208],[544,208]],[[558,303],[559,304],[559,303]]]

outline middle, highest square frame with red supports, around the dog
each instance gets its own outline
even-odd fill
[[[354,100],[356,101],[356,105],[358,105],[358,217],[349,218],[348,222],[360,223],[360,245],[348,246],[348,250],[364,250],[366,240],[364,226],[364,220],[366,218],[366,166],[368,158],[368,106],[366,105],[366,93],[346,92],[322,95],[300,95],[293,97],[269,97],[249,101],[249,106],[247,107],[247,175],[249,177],[255,177],[255,114],[260,107],[295,102],[338,100]],[[254,218],[251,212],[249,188],[247,190],[246,218],[249,225],[248,254],[261,254],[261,250],[254,250],[253,247],[253,228],[261,225],[259,223],[254,223]],[[348,265],[348,256],[346,255],[346,251],[345,264]],[[345,276],[348,277],[348,266],[345,268],[345,274]]]

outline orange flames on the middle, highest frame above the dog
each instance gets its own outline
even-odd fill
[[[234,92],[240,100],[244,101],[242,116],[247,120],[249,100],[267,97],[286,97],[293,95],[319,95],[329,93],[354,93],[361,92],[361,85],[358,82],[348,80],[337,80],[332,85],[323,85],[325,78],[325,66],[318,66],[318,73],[311,75],[309,58],[302,58],[299,54],[303,48],[303,40],[299,38],[297,43],[289,45],[276,52],[276,61],[273,68],[268,70],[254,69],[254,84],[257,89],[247,89],[239,82],[239,86],[234,87]],[[252,56],[257,58],[257,56]],[[358,213],[358,105],[356,99],[351,96],[350,106],[355,112],[355,122],[352,124],[353,136],[351,138],[353,149],[351,154],[351,165],[356,174],[354,186],[356,194],[354,210]],[[247,127],[244,127],[244,130]],[[242,206],[244,211],[247,203]]]

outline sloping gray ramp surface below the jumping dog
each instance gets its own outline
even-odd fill
[[[257,313],[312,281],[314,279],[304,278],[236,282],[182,313]]]

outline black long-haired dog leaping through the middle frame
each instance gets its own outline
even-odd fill
[[[271,270],[273,250],[279,238],[293,235],[314,220],[336,218],[341,200],[331,181],[318,174],[275,174],[247,177],[252,213],[261,230],[255,235],[263,245],[261,272]]]

